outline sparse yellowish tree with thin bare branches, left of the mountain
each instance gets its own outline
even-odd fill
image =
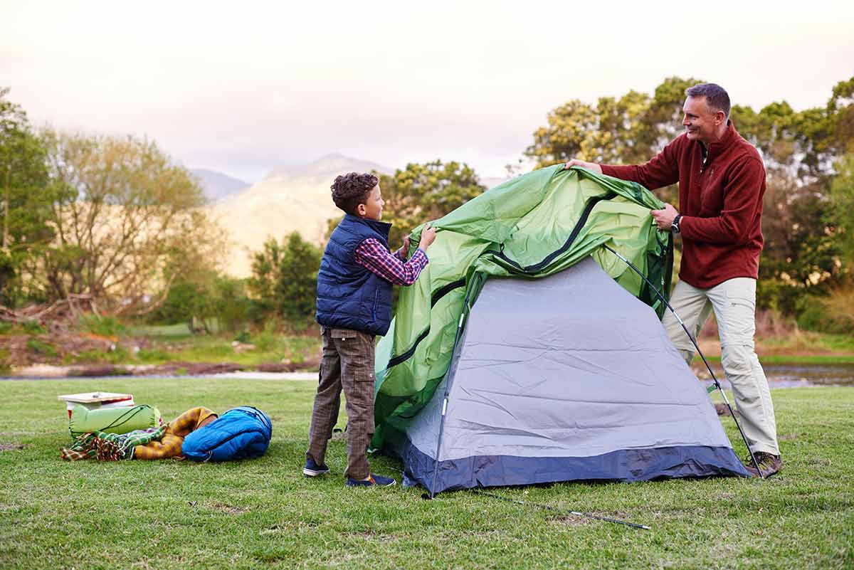
[[[143,314],[200,260],[218,263],[223,233],[200,207],[202,189],[155,143],[44,138],[56,238],[29,270],[45,297],[90,294],[110,314]]]

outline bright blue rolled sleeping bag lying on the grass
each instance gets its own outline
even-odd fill
[[[272,437],[270,418],[257,408],[232,408],[187,435],[181,453],[193,461],[229,461],[264,455]]]

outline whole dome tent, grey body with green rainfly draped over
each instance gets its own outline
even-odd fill
[[[663,304],[605,249],[666,294],[652,207],[637,184],[555,166],[436,221],[377,346],[372,445],[401,457],[405,484],[746,475]]]

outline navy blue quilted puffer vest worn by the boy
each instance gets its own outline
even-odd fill
[[[389,247],[391,224],[347,214],[326,244],[318,273],[317,321],[325,327],[383,335],[391,324],[392,284],[355,261],[372,237]]]

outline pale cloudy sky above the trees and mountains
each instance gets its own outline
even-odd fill
[[[290,4],[0,0],[0,86],[253,183],[330,153],[500,177],[570,99],[679,76],[798,110],[854,76],[852,2]]]

